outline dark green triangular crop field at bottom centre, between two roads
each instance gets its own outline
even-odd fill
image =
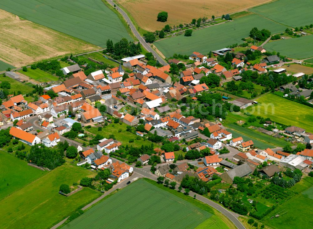
[[[107,215],[108,212],[111,214]],[[194,228],[212,215],[140,179],[90,208],[64,228]]]

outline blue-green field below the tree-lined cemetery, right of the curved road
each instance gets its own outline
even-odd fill
[[[272,33],[286,29],[285,26],[264,17],[250,14],[235,18],[231,22],[194,31],[191,37],[180,35],[157,41],[154,44],[166,57],[174,53],[190,55],[194,51],[207,54],[209,51],[225,48],[234,43],[243,43],[241,38],[249,37],[249,32],[253,27],[258,27],[260,30],[265,28]]]

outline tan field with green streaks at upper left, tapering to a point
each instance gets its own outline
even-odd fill
[[[0,60],[20,67],[69,53],[99,49],[75,37],[21,20],[0,9]]]

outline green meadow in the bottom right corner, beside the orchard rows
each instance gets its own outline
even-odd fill
[[[305,185],[304,185],[305,183]],[[303,192],[297,194],[292,197],[291,199],[287,200],[285,203],[281,204],[279,207],[277,207],[273,212],[269,213],[262,222],[273,229],[300,229],[300,228],[310,228],[313,224],[312,217],[307,217],[310,212],[307,214],[303,214],[304,209],[310,209],[310,207],[313,204],[312,199],[312,187],[313,187],[313,178],[306,177],[301,179],[301,181],[290,190],[295,189],[303,190],[304,187],[306,189],[303,190]],[[309,186],[309,187],[307,187]],[[306,192],[310,192],[311,196],[306,196]],[[270,219],[270,217],[280,214],[281,216],[278,218]],[[284,214],[285,213],[285,214]]]

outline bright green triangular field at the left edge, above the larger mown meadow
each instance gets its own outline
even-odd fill
[[[0,150],[0,200],[46,173]]]

